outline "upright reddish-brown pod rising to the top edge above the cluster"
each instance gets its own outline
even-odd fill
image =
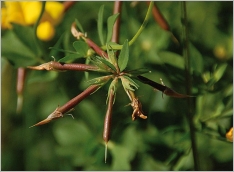
[[[115,1],[114,4],[114,10],[113,10],[113,14],[119,13],[121,14],[121,7],[122,7],[122,1]],[[119,28],[120,28],[120,15],[117,18],[114,27],[113,27],[113,35],[112,35],[112,42],[119,42]]]

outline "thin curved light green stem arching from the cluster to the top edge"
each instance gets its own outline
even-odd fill
[[[146,24],[148,23],[149,21],[149,18],[151,16],[151,13],[152,13],[152,9],[153,9],[153,5],[154,5],[154,2],[151,1],[150,2],[150,5],[149,5],[149,8],[147,10],[147,13],[146,13],[146,16],[145,16],[145,19],[141,25],[141,27],[139,28],[139,30],[137,31],[137,33],[133,36],[133,38],[129,41],[129,46],[131,46],[135,41],[136,39],[140,36],[141,32],[144,30]],[[111,47],[114,49],[114,50],[121,50],[123,45],[111,45]],[[106,50],[106,46],[102,46],[102,49],[103,50]]]

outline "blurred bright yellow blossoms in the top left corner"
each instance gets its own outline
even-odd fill
[[[6,1],[1,8],[1,27],[11,29],[11,23],[33,25],[37,21],[41,8],[41,1]],[[55,26],[63,17],[64,6],[60,2],[46,2],[45,11],[37,28],[37,36],[43,41],[49,41],[55,34]]]

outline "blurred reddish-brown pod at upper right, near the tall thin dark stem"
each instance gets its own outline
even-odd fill
[[[146,3],[148,5],[150,4],[149,1],[147,1]],[[170,26],[168,25],[167,21],[165,20],[162,13],[160,12],[160,10],[158,9],[158,7],[155,4],[153,6],[152,12],[153,12],[154,19],[159,24],[159,26],[164,30],[170,31]]]

